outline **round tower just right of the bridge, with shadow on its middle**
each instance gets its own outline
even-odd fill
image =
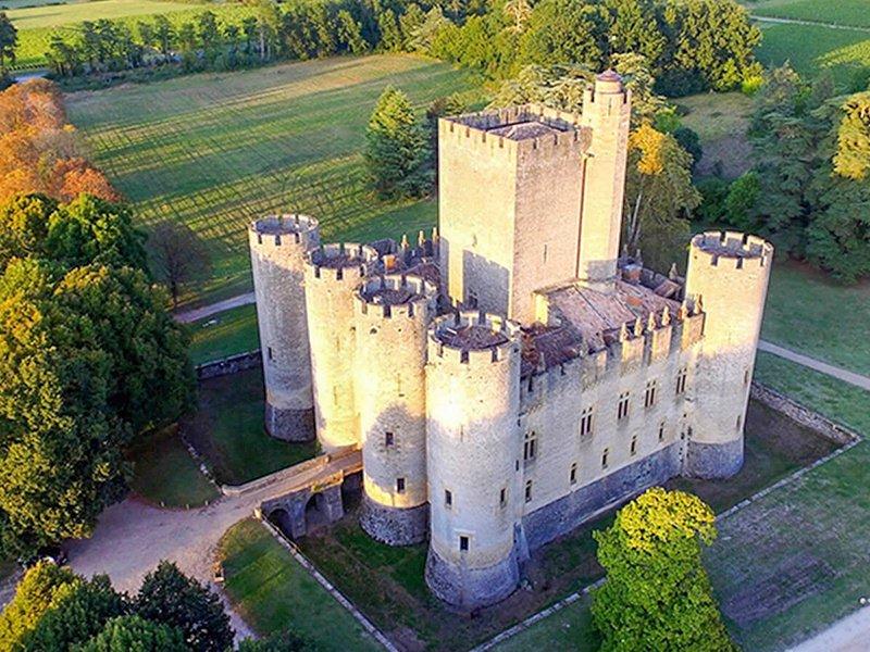
[[[426,331],[436,287],[419,276],[365,280],[356,293],[360,524],[390,546],[426,538]]]

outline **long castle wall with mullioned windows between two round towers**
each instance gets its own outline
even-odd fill
[[[534,434],[535,455],[519,450],[523,527],[531,548],[570,531],[609,504],[681,473],[694,413],[696,361],[704,315],[659,325],[609,349],[523,378],[520,427]],[[685,371],[685,390],[678,379]],[[646,406],[646,390],[656,397]],[[627,393],[627,415],[618,417]],[[592,431],[583,432],[592,409]],[[606,454],[606,463],[605,463]],[[572,468],[574,469],[572,472]]]

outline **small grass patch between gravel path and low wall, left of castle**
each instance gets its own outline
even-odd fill
[[[220,360],[260,348],[257,308],[241,305],[190,324],[194,364]]]

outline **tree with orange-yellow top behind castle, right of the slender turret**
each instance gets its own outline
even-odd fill
[[[643,124],[629,136],[625,176],[625,246],[642,249],[652,268],[664,269],[701,200],[692,185],[692,156],[673,136]]]

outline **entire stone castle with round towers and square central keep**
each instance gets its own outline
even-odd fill
[[[743,463],[773,250],[698,235],[685,277],[620,256],[630,114],[606,72],[582,115],[442,120],[439,229],[415,246],[250,226],[269,432],[360,448],[362,527],[428,539],[448,603],[497,602],[531,550]]]

